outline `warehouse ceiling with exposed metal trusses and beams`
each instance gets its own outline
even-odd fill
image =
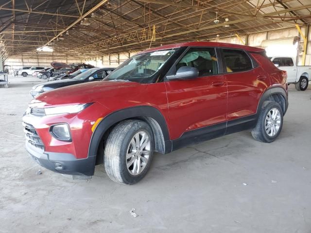
[[[310,0],[0,0],[0,52],[86,58],[310,22]]]

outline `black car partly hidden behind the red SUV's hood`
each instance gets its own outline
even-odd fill
[[[45,92],[45,91],[51,91],[53,89],[79,84],[79,83],[87,83],[91,81],[101,81],[103,78],[105,78],[111,71],[114,70],[114,68],[91,68],[86,70],[85,72],[75,76],[72,79],[64,79],[64,80],[56,80],[52,82],[47,83],[40,83],[30,90],[30,95],[35,98],[37,95]]]

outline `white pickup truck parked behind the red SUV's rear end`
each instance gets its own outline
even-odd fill
[[[295,84],[297,91],[304,91],[311,81],[311,66],[296,66],[292,57],[275,56],[269,57],[279,69],[287,71],[287,83]]]

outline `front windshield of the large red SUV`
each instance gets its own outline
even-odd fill
[[[166,49],[136,54],[104,78],[104,81],[126,80],[146,83],[146,80],[155,77],[176,50]]]

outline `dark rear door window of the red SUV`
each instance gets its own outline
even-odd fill
[[[243,50],[223,49],[227,72],[242,72],[253,68],[252,61]]]

